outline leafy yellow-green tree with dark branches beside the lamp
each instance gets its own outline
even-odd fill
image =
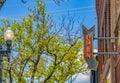
[[[83,56],[78,54],[82,41],[77,35],[71,37],[71,29],[68,30],[72,26],[71,21],[56,30],[53,19],[45,12],[45,3],[41,0],[36,2],[35,9],[30,9],[32,14],[23,17],[22,21],[2,22],[0,42],[5,43],[3,33],[9,25],[15,35],[11,63],[4,58],[4,66],[7,67],[3,72],[5,81],[11,74],[16,83],[26,83],[26,78],[30,78],[31,83],[35,78],[40,83],[65,83],[71,76],[86,70]],[[59,32],[68,36],[61,36]]]

